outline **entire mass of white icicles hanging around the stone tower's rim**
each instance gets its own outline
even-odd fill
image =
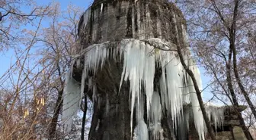
[[[72,70],[67,74],[66,87],[64,89],[63,118],[67,121],[66,125],[71,124],[70,119],[80,107],[81,97],[84,93],[85,79],[88,79],[88,72],[97,70],[104,66],[109,58],[123,60],[123,73],[120,80],[120,87],[123,81],[130,81],[130,104],[131,104],[131,131],[133,130],[133,110],[136,109],[136,124],[133,139],[148,140],[149,131],[155,139],[162,139],[163,129],[161,126],[162,110],[167,110],[167,114],[174,119],[174,127],[184,121],[190,121],[190,116],[194,116],[194,125],[197,129],[200,140],[205,139],[206,127],[197,95],[194,90],[190,76],[183,69],[181,62],[175,51],[162,51],[154,46],[164,46],[174,48],[161,39],[149,39],[147,42],[138,39],[123,39],[116,47],[110,47],[109,43],[95,44],[87,48],[85,53],[85,67],[82,73],[81,86],[71,77]],[[167,47],[168,46],[168,47]],[[202,89],[200,72],[195,66],[194,61],[186,58],[186,64],[194,72],[197,83]],[[155,67],[161,67],[162,76],[159,79],[160,89],[154,89]],[[90,81],[90,80],[89,80]],[[94,89],[94,99],[97,91],[95,85],[89,82]],[[145,89],[142,92],[142,89]],[[146,98],[142,94],[146,94]],[[160,98],[161,97],[161,98]],[[149,120],[147,126],[144,122],[143,102],[146,101],[146,112]],[[184,104],[191,104],[190,111],[183,111]],[[215,125],[222,123],[223,111],[219,108],[209,107],[206,110],[210,118],[213,118]],[[184,112],[184,113],[183,113]],[[178,119],[177,119],[178,118]],[[185,118],[185,119],[184,119]],[[189,123],[187,123],[187,129]],[[70,129],[70,126],[66,128]]]

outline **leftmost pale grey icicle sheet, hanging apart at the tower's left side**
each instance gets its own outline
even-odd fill
[[[74,79],[72,79],[71,73],[66,73],[66,85],[64,88],[63,98],[63,112],[62,121],[64,123],[64,129],[66,132],[70,132],[72,126],[72,116],[76,114],[79,108],[79,101],[81,88]]]

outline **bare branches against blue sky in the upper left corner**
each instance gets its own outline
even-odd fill
[[[26,9],[26,10],[23,10]],[[40,17],[51,14],[50,5],[37,5],[33,0],[0,2],[0,50],[22,42],[26,26],[37,26]]]

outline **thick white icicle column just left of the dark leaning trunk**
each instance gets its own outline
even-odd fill
[[[183,106],[180,62],[175,54],[169,51],[162,51],[159,61],[162,65],[160,79],[162,103],[168,114],[171,114],[171,118],[175,118],[181,115]]]

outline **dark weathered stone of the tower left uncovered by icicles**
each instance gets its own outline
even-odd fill
[[[184,44],[185,30],[185,20],[181,11],[167,0],[95,0],[79,23],[78,32],[82,48],[78,49],[78,53],[84,53],[85,48],[90,45],[105,42],[118,47],[122,39],[158,38],[177,45]],[[76,65],[74,67],[73,76],[81,81],[82,69]],[[93,97],[92,93],[88,95],[91,99],[97,98],[94,104],[98,105],[94,105],[89,139],[130,140],[134,136],[130,125],[130,83],[123,83],[120,88],[122,70],[122,61],[110,60],[95,74],[97,77],[94,84],[97,85],[98,94],[97,97]],[[162,73],[156,74],[160,76]],[[158,76],[155,76],[155,81],[158,80]],[[146,101],[144,104],[146,108]],[[144,113],[143,118],[147,123],[146,111]],[[135,127],[136,114],[133,116]],[[164,114],[161,121],[161,137],[173,139],[172,120]]]

